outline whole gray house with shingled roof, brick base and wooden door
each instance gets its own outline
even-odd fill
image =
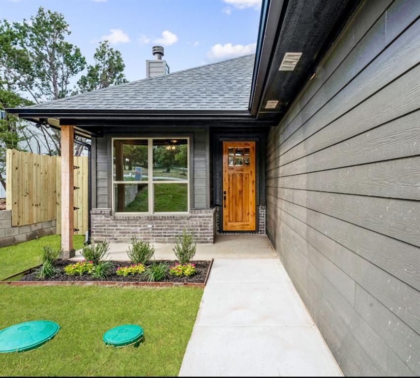
[[[419,14],[266,0],[255,56],[9,109],[61,129],[64,251],[78,134],[94,239],[267,233],[346,375],[419,375]]]

